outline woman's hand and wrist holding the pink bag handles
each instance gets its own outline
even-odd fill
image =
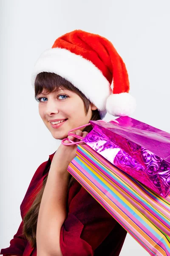
[[[88,132],[87,131],[72,131],[71,133],[79,135],[81,137],[85,137]],[[68,136],[68,138],[74,142],[80,141],[77,138],[72,136]],[[65,143],[70,143],[68,140],[65,140]],[[85,143],[81,143],[83,145]],[[69,163],[76,157],[77,145],[63,145],[61,144],[57,151],[54,154],[53,160],[51,162],[51,166],[57,169],[57,172],[63,173],[67,172],[67,168]]]

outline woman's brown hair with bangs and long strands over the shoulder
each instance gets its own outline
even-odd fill
[[[83,79],[83,78],[82,78]],[[45,90],[45,93],[51,93],[57,90],[59,87],[66,90],[71,90],[74,93],[77,93],[81,97],[84,102],[85,114],[87,115],[88,109],[90,106],[90,101],[85,97],[85,95],[77,89],[70,81],[62,78],[61,76],[55,73],[42,72],[39,73],[35,79],[35,99],[37,99],[37,95],[42,93],[42,90]],[[98,110],[92,111],[91,120],[101,119]],[[91,125],[84,128],[83,131],[90,132],[92,130]],[[71,175],[71,179],[69,181],[68,190],[70,186],[76,181],[76,179]],[[38,212],[40,209],[40,203],[42,199],[42,195],[45,189],[45,184],[47,182],[48,174],[44,178],[42,182],[42,188],[40,189],[41,184],[35,190],[34,197],[31,198],[33,201],[31,207],[23,218],[23,235],[31,244],[32,247],[36,246],[36,230],[37,230],[37,220],[38,220]]]

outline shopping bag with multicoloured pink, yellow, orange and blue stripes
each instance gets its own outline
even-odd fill
[[[88,145],[78,145],[68,172],[150,255],[170,255],[170,197],[150,192]]]

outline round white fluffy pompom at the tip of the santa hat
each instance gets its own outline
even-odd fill
[[[129,93],[112,93],[106,102],[106,110],[113,116],[130,116],[136,108],[136,100]]]

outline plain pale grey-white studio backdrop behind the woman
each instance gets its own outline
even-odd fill
[[[19,227],[20,204],[34,172],[57,150],[38,113],[31,71],[55,39],[82,29],[110,40],[123,58],[131,117],[170,132],[169,0],[1,0],[0,249]],[[97,97],[97,92],[96,92]],[[105,120],[114,117],[108,115]],[[127,235],[120,256],[149,255]]]

